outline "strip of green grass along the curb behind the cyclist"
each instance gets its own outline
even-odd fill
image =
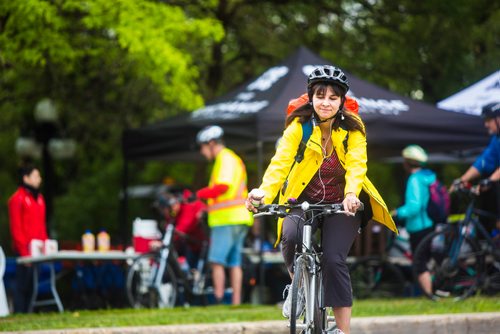
[[[424,298],[355,301],[353,317],[412,314],[496,312],[498,297],[473,297],[463,302],[432,302]],[[0,318],[1,331],[90,327],[154,326],[193,323],[283,320],[277,306],[209,306],[174,309],[115,309],[12,315]]]

